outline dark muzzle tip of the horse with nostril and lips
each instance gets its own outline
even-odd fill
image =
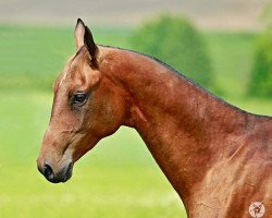
[[[63,167],[58,172],[53,171],[53,168],[46,162],[44,166],[38,165],[38,170],[41,174],[45,175],[45,178],[52,183],[59,183],[59,182],[66,182],[71,177],[73,172],[73,162],[70,162],[65,167]]]

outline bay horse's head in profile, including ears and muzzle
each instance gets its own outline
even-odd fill
[[[81,20],[75,41],[76,53],[53,85],[51,119],[37,160],[39,171],[54,183],[69,180],[74,162],[125,118],[123,94],[102,72],[103,51]]]

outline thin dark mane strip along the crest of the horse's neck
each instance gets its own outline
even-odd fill
[[[164,68],[169,69],[171,73],[180,76],[182,80],[188,82],[189,84],[191,84],[194,87],[198,88],[200,92],[211,96],[212,98],[214,98],[215,100],[222,102],[223,105],[225,105],[226,107],[231,107],[233,108],[234,110],[237,110],[242,113],[249,113],[249,114],[252,114],[252,116],[259,116],[259,117],[263,117],[263,118],[271,118],[269,116],[261,116],[261,114],[255,114],[255,113],[251,113],[251,112],[248,112],[244,109],[240,109],[238,108],[237,106],[234,106],[227,101],[225,101],[224,99],[222,99],[221,97],[214,95],[213,93],[211,93],[210,90],[208,90],[207,88],[202,87],[200,84],[191,81],[189,77],[185,76],[183,73],[178,72],[177,70],[175,70],[174,68],[172,68],[171,65],[169,65],[168,63],[159,60],[158,58],[156,57],[152,57],[152,56],[149,56],[149,55],[146,55],[146,53],[143,53],[143,52],[139,52],[139,51],[135,51],[135,50],[131,50],[131,49],[124,49],[124,48],[120,48],[120,47],[114,47],[114,46],[104,46],[104,45],[99,45],[101,47],[106,47],[106,48],[112,48],[112,49],[119,49],[119,50],[123,50],[123,51],[129,51],[129,52],[133,52],[133,53],[137,53],[139,56],[144,56],[144,57],[147,57],[153,61],[156,61],[157,63],[159,63],[160,65],[163,65]]]

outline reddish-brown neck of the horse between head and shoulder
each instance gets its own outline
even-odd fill
[[[243,133],[248,114],[148,57],[113,50],[110,59],[109,73],[131,96],[128,125],[186,201],[222,153],[235,150],[234,145],[224,152],[220,147],[231,133]]]

